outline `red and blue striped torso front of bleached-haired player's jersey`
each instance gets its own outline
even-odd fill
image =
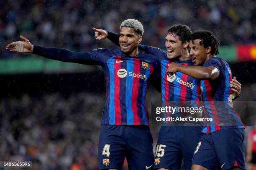
[[[102,124],[149,125],[146,109],[148,78],[154,67],[149,60],[113,56],[107,61],[107,101]],[[122,69],[122,75],[120,73]],[[125,75],[126,74],[126,75]]]

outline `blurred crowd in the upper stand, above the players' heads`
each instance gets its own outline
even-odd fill
[[[0,0],[0,6],[1,57],[15,55],[4,49],[19,35],[36,45],[79,51],[99,48],[92,27],[118,32],[128,18],[143,23],[143,44],[161,48],[169,26],[178,23],[192,30],[212,30],[222,45],[256,41],[253,0]]]

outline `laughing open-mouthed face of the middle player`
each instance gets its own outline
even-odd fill
[[[179,40],[178,35],[175,36],[174,33],[168,33],[165,37],[165,46],[167,49],[167,57],[169,59],[174,59],[182,55],[184,45],[182,44],[182,41]]]

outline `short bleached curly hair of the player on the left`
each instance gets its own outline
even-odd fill
[[[124,20],[123,23],[121,23],[121,25],[120,25],[120,30],[122,27],[133,28],[134,32],[136,32],[137,34],[139,34],[141,36],[144,33],[143,25],[138,20],[134,20],[134,19]]]

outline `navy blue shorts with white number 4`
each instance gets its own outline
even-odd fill
[[[153,138],[148,126],[102,125],[98,159],[100,169],[153,170]]]

